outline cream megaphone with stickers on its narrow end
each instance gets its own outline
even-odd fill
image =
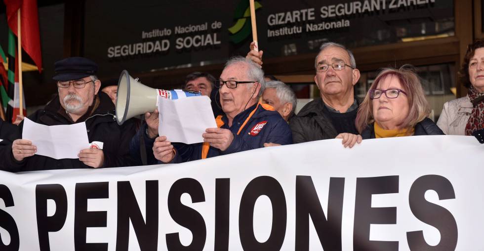
[[[129,76],[126,70],[121,72],[116,94],[116,119],[119,125],[134,116],[153,112],[157,107],[158,96],[178,99],[200,96],[199,92],[182,90],[162,90],[141,84]]]

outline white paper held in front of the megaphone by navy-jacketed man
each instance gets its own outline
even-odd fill
[[[203,142],[206,128],[217,127],[210,98],[207,96],[166,99],[158,97],[160,124],[158,134],[170,142],[186,144]]]

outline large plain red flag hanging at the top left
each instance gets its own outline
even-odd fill
[[[34,60],[39,72],[42,72],[37,0],[3,0],[3,2],[6,5],[8,27],[17,37],[17,10],[20,8],[22,48]]]

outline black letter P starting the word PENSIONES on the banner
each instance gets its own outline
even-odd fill
[[[47,216],[47,200],[55,202],[55,213]],[[49,232],[62,229],[67,217],[67,194],[60,184],[37,185],[35,188],[37,232],[40,251],[50,251]]]

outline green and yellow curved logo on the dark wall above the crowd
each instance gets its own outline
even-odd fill
[[[254,1],[255,9],[261,8],[262,5],[258,1]],[[252,32],[250,24],[250,6],[248,0],[242,0],[235,10],[234,19],[237,22],[234,26],[229,28],[230,41],[240,43],[245,40]]]

